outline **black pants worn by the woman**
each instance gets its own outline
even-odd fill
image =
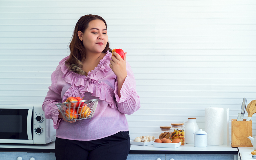
[[[129,131],[93,141],[75,141],[56,137],[56,160],[126,160],[130,151]]]

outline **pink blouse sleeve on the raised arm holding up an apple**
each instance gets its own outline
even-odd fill
[[[135,77],[128,62],[126,62],[126,71],[127,77],[121,88],[121,97],[118,96],[117,82],[114,93],[118,110],[124,114],[133,114],[140,108],[140,97],[136,92]]]

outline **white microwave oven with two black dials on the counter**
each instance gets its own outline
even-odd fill
[[[0,105],[0,143],[47,144],[55,140],[53,120],[40,105]]]

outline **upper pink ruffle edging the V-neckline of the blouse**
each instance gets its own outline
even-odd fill
[[[71,85],[73,85],[74,82],[72,84],[72,81],[74,80],[75,77],[77,78],[80,77],[84,80],[88,79],[89,81],[94,81],[94,80],[103,78],[106,75],[105,73],[111,69],[109,67],[111,56],[112,54],[109,51],[107,51],[106,55],[100,60],[100,63],[98,64],[98,66],[95,67],[92,71],[88,72],[87,76],[68,70],[67,66],[65,65],[65,61],[69,57],[67,56],[59,62],[61,72],[63,73],[62,79],[68,83],[71,83]]]

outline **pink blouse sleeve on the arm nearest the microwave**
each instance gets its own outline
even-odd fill
[[[42,110],[45,112],[45,118],[52,119],[54,123],[54,128],[58,129],[59,121],[58,120],[58,107],[55,105],[57,103],[61,103],[61,90],[58,90],[56,87],[56,79],[55,79],[55,72],[54,71],[51,75],[52,84],[49,87],[49,91],[45,97],[45,101],[42,104]]]

